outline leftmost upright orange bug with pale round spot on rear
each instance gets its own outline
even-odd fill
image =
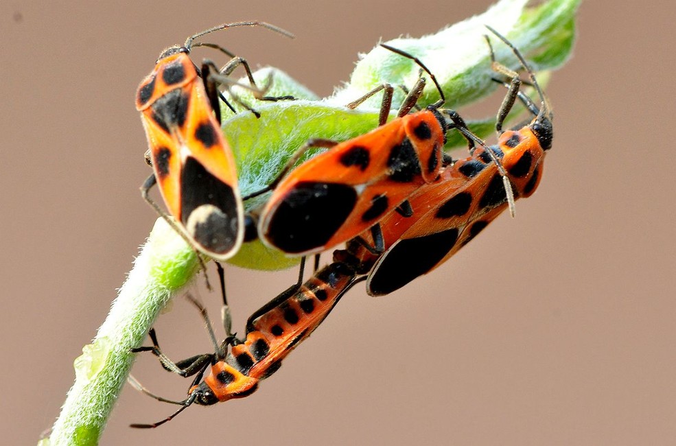
[[[141,187],[148,203],[162,215],[191,246],[216,260],[235,255],[244,238],[244,207],[237,187],[235,159],[220,128],[219,98],[228,104],[218,85],[236,84],[228,76],[242,65],[257,91],[248,63],[230,51],[194,40],[231,27],[260,26],[284,36],[289,32],[265,22],[225,23],[185,40],[183,46],[165,49],[153,71],[141,82],[136,108],[141,112],[150,150],[146,161],[153,174]],[[232,59],[222,69],[204,60],[198,69],[189,58],[193,47],[218,49]],[[230,106],[230,108],[234,109]],[[168,218],[149,196],[159,183]]]

